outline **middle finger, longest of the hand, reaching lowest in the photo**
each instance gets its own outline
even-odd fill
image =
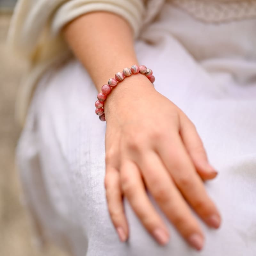
[[[159,156],[149,152],[141,156],[139,166],[149,192],[164,214],[190,245],[201,250],[203,233]]]

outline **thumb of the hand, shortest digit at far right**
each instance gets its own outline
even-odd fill
[[[180,136],[201,178],[204,180],[215,178],[218,172],[209,164],[196,127],[185,115],[180,117]]]

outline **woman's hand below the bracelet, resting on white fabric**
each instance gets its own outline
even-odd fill
[[[217,172],[207,161],[194,125],[140,74],[125,79],[111,92],[105,116],[106,196],[121,241],[128,237],[124,195],[148,232],[160,244],[168,242],[168,230],[147,188],[180,234],[200,250],[204,236],[189,205],[213,228],[220,226],[220,214],[202,181]]]

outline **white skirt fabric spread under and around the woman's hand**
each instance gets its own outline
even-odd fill
[[[126,200],[130,237],[119,242],[103,185],[106,123],[94,113],[97,91],[77,60],[41,79],[17,148],[26,203],[43,240],[75,256],[256,255],[255,25],[209,24],[168,5],[135,43],[156,90],[193,121],[219,171],[205,187],[223,222],[212,230],[198,219],[203,251],[186,244],[152,198],[170,242],[159,246]]]

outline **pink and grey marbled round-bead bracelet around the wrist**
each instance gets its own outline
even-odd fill
[[[104,101],[107,99],[107,95],[119,82],[122,82],[124,78],[138,73],[147,76],[148,80],[152,84],[155,82],[155,76],[153,76],[153,71],[150,68],[147,68],[144,65],[140,67],[137,65],[132,65],[131,68],[124,68],[123,72],[117,72],[115,78],[110,78],[108,80],[108,84],[104,84],[101,87],[101,92],[99,92],[97,96],[98,100],[95,102],[95,113],[99,116],[101,121],[106,121],[104,114]]]

